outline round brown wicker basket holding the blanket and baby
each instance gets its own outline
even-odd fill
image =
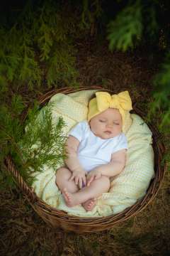
[[[101,87],[79,87],[79,89],[73,89],[73,88],[62,88],[59,90],[51,90],[50,92],[47,92],[45,95],[42,95],[40,97],[40,105],[45,105],[50,98],[59,93],[62,92],[64,94],[68,94],[71,92],[77,92],[79,90],[105,90]],[[111,90],[106,90],[108,92],[111,92],[112,94],[115,92],[112,92]],[[143,113],[141,110],[139,110],[135,105],[133,105],[133,111],[136,114],[139,114],[141,117],[143,116]],[[136,215],[137,213],[140,213],[141,210],[143,210],[157,195],[157,192],[159,191],[160,186],[162,185],[162,181],[164,178],[164,173],[166,171],[166,163],[164,162],[164,166],[161,166],[162,161],[162,154],[164,154],[164,144],[162,144],[160,140],[160,134],[157,131],[157,129],[151,125],[148,124],[149,128],[152,130],[153,133],[153,148],[154,148],[154,171],[155,176],[152,179],[152,181],[149,184],[149,188],[147,190],[147,193],[144,198],[142,198],[140,201],[137,201],[135,205],[131,206],[130,208],[127,208],[123,210],[123,212],[111,215],[108,217],[102,217],[102,218],[80,218],[77,216],[71,216],[67,215],[67,213],[64,213],[62,210],[57,210],[56,208],[52,208],[51,206],[47,205],[44,201],[42,201],[36,194],[32,191],[31,188],[29,188],[25,181],[23,181],[23,178],[19,174],[19,171],[16,169],[16,167],[13,164],[13,160],[10,156],[6,157],[5,164],[6,169],[13,174],[13,176],[16,178],[16,181],[18,183],[18,186],[21,188],[21,191],[26,195],[28,198],[28,201],[30,205],[34,208],[34,210],[42,217],[43,220],[45,220],[45,223],[48,225],[54,227],[54,228],[62,228],[67,231],[74,231],[76,233],[94,233],[101,230],[107,230],[109,228],[112,228],[115,223],[120,223],[123,220],[127,220],[128,218],[132,217],[133,215]]]

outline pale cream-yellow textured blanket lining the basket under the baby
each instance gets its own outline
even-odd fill
[[[86,119],[89,98],[94,92],[95,90],[84,90],[69,95],[59,93],[51,98],[52,121],[55,123],[58,117],[63,117],[67,124],[64,134],[77,122]],[[145,196],[149,182],[154,177],[152,132],[137,114],[127,115],[123,132],[128,138],[127,164],[123,172],[112,181],[110,191],[98,198],[92,211],[86,212],[82,206],[68,208],[65,205],[63,196],[55,185],[56,170],[49,169],[48,166],[44,166],[42,173],[34,174],[37,179],[33,183],[35,193],[50,206],[84,217],[112,215],[132,206],[137,199]]]

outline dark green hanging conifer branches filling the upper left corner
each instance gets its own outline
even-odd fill
[[[0,85],[77,85],[74,40],[93,32],[101,1],[30,0],[19,11],[8,9],[10,20],[0,12]]]

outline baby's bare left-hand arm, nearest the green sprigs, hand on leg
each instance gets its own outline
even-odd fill
[[[70,180],[75,179],[75,183],[79,183],[79,188],[82,187],[82,181],[86,184],[86,172],[82,169],[79,159],[77,158],[77,149],[79,147],[79,140],[72,135],[66,142],[67,159],[65,159],[65,164],[72,171],[72,176]]]

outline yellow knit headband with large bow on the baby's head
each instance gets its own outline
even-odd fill
[[[96,97],[89,102],[88,121],[109,107],[118,109],[124,122],[125,113],[132,110],[129,92],[120,92],[118,95],[110,95],[108,92],[96,92]]]

